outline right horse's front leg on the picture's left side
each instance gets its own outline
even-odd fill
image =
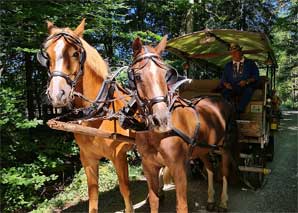
[[[150,204],[150,212],[158,213],[159,208],[159,170],[160,167],[146,163],[145,159],[142,159],[142,165],[144,174],[148,184],[148,197]]]

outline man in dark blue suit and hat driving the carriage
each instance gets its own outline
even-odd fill
[[[230,54],[232,61],[225,65],[221,81],[222,95],[228,101],[231,101],[233,96],[240,97],[236,107],[239,115],[251,100],[259,80],[259,69],[254,61],[243,57],[242,48],[238,44],[230,44]]]

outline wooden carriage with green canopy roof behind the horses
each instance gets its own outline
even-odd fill
[[[246,58],[257,62],[260,81],[245,112],[237,120],[240,166],[244,181],[258,188],[270,172],[266,161],[274,155],[274,130],[277,120],[272,110],[272,90],[277,67],[274,52],[264,33],[228,29],[204,30],[168,41],[167,50],[185,61],[183,72],[191,82],[180,88],[180,95],[220,96],[219,78],[228,62],[228,45],[237,42]],[[233,104],[237,104],[235,98]]]

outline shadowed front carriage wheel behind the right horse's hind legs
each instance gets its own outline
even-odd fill
[[[244,165],[247,167],[265,168],[266,166],[266,156],[263,150],[257,150],[252,154],[251,158],[244,160]],[[246,184],[254,189],[258,189],[262,186],[264,182],[265,174],[263,172],[243,172],[243,178]]]

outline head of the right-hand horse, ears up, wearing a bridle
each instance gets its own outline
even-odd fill
[[[161,53],[167,43],[167,36],[156,46],[144,46],[139,38],[133,42],[133,62],[129,73],[132,87],[137,91],[141,111],[149,120],[149,127],[156,132],[166,132],[170,127],[168,109],[168,87]]]

